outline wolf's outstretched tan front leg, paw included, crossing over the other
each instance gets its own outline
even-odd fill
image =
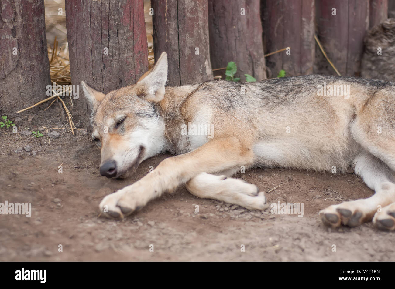
[[[123,218],[199,173],[248,166],[253,160],[254,154],[246,140],[229,137],[213,139],[190,153],[166,158],[152,173],[106,196],[99,205],[100,211],[112,218]]]

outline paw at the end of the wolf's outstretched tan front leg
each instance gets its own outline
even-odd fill
[[[145,205],[142,200],[139,200],[137,194],[133,194],[134,196],[131,197],[131,194],[127,192],[128,190],[123,188],[105,196],[99,205],[100,212],[108,218],[122,219]]]

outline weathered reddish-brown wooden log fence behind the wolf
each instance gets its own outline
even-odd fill
[[[0,0],[2,115],[44,99],[51,84],[44,0]],[[395,0],[151,0],[154,54],[166,51],[169,85],[224,75],[229,61],[258,80],[311,73],[358,76],[363,37]],[[66,0],[73,84],[107,93],[148,69],[143,0]],[[264,58],[264,54],[290,49]],[[76,106],[87,110],[83,97]]]

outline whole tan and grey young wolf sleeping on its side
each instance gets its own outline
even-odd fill
[[[165,88],[166,79],[162,53],[134,85],[104,95],[81,83],[102,175],[127,176],[158,153],[175,155],[106,196],[106,216],[128,216],[184,184],[200,198],[263,210],[265,193],[231,178],[243,166],[341,172],[352,165],[375,194],[327,207],[322,221],[354,227],[373,219],[395,230],[395,83],[308,75]]]

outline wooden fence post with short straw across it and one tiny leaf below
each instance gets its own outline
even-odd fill
[[[285,70],[286,76],[307,75],[314,66],[314,0],[262,0],[265,53],[290,50],[266,57],[269,78]]]

